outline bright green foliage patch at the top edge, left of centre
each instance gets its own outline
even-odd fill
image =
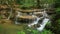
[[[18,4],[20,4],[20,7],[31,7],[34,6],[35,2],[34,0],[16,0]]]

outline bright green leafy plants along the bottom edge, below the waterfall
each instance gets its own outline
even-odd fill
[[[42,32],[40,32],[40,31],[32,29],[32,28],[19,31],[18,34],[19,33],[20,34],[53,34],[50,30],[44,29]]]

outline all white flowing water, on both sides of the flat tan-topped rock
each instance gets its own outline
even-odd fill
[[[15,24],[20,24],[20,23],[17,22],[17,17],[18,17],[18,16],[21,16],[21,15],[20,15],[20,12],[18,12],[18,15],[16,16]],[[34,17],[34,16],[35,16],[35,15],[32,15],[32,17]],[[48,21],[49,21],[49,19],[46,18],[46,17],[48,17],[48,15],[47,15],[46,11],[44,10],[44,11],[43,11],[43,16],[42,16],[42,17],[37,17],[36,20],[33,21],[33,23],[28,24],[28,27],[31,27],[31,26],[33,26],[34,24],[38,24],[38,21],[41,20],[42,18],[44,18],[43,21],[42,21],[42,23],[40,24],[40,27],[39,27],[39,28],[36,28],[37,30],[42,31],[42,30],[44,29],[45,25],[46,25],[46,24],[48,23]]]

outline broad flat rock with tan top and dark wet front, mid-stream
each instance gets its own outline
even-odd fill
[[[36,17],[32,16],[20,16],[18,17],[18,22],[27,22],[27,23],[32,23],[34,20],[36,20]]]

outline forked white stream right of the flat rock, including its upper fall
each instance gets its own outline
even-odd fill
[[[44,10],[44,11],[43,11],[43,16],[40,17],[40,18],[37,17],[37,20],[34,21],[33,23],[29,24],[28,26],[31,27],[31,26],[34,25],[34,24],[38,24],[38,21],[39,21],[41,18],[44,18],[43,21],[42,21],[42,23],[40,24],[40,27],[37,28],[37,30],[42,31],[42,30],[44,29],[45,25],[46,25],[46,24],[48,23],[48,21],[49,21],[49,19],[46,18],[46,17],[48,17],[48,15],[47,15],[46,11]]]

